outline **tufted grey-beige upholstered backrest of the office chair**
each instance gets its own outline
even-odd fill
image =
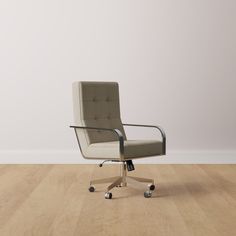
[[[75,125],[119,129],[126,139],[120,118],[119,86],[116,82],[74,82]],[[108,131],[77,129],[81,148],[91,143],[118,141]]]

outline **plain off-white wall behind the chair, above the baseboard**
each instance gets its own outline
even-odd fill
[[[2,153],[77,150],[75,80],[118,81],[123,121],[161,124],[169,151],[234,152],[235,12],[234,0],[1,0]]]

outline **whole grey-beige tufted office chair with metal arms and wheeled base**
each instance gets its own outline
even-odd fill
[[[143,187],[147,184],[144,197],[149,198],[155,189],[154,180],[127,176],[134,170],[132,160],[166,154],[166,136],[162,128],[153,125],[123,124],[120,118],[119,87],[116,82],[73,83],[74,129],[85,159],[120,162],[119,176],[90,181],[89,191],[96,184],[111,183],[105,198],[111,199],[111,189],[117,186]],[[127,140],[124,126],[155,128],[162,140]]]

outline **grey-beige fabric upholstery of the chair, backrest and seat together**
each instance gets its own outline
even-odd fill
[[[120,118],[119,88],[115,82],[74,82],[74,120],[77,126],[119,129],[124,136],[124,158],[162,154],[157,140],[127,140]],[[85,158],[119,159],[118,137],[108,131],[76,129]]]

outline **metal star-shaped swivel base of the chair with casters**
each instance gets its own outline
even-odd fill
[[[130,187],[140,189],[140,188],[147,187],[147,184],[148,184],[149,189],[148,191],[144,192],[144,196],[151,197],[151,193],[155,189],[153,179],[127,176],[127,167],[126,167],[125,162],[122,162],[120,172],[121,172],[120,176],[91,180],[90,186],[96,185],[96,184],[111,183],[106,189],[105,198],[107,198],[106,197],[107,194],[110,194],[112,196],[112,194],[109,191],[112,190],[114,187],[125,187],[128,184]],[[109,199],[110,198],[111,197],[109,197]]]

